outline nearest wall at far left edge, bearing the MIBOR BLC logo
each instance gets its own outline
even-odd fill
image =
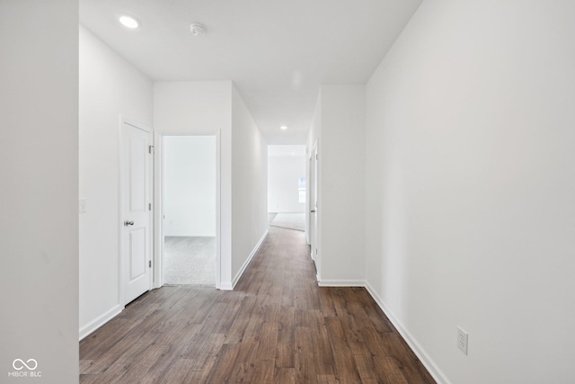
[[[0,2],[4,383],[78,382],[77,28],[77,1]]]

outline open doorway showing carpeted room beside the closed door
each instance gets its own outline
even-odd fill
[[[216,287],[215,136],[164,136],[164,284]]]

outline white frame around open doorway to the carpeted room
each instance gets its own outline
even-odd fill
[[[164,137],[214,136],[216,138],[216,288],[221,288],[221,150],[220,130],[206,129],[194,132],[155,131],[154,135],[154,288],[164,285]]]

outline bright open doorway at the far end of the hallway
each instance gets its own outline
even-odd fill
[[[305,231],[305,146],[268,146],[270,226]]]

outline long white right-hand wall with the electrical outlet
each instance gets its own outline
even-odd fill
[[[575,379],[573,14],[425,1],[367,85],[367,281],[445,382]]]

